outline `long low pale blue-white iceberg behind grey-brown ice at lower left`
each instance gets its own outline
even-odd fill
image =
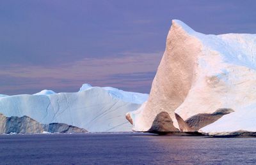
[[[84,84],[73,93],[43,90],[34,95],[0,97],[0,113],[5,117],[27,116],[40,124],[63,123],[90,132],[131,131],[125,113],[138,109],[147,99],[148,94]]]

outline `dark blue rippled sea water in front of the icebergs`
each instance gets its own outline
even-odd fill
[[[0,164],[255,164],[256,138],[1,135]]]

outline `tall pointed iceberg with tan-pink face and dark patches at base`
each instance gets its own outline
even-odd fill
[[[202,34],[173,20],[134,131],[256,132],[256,34]]]

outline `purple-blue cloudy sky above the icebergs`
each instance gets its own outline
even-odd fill
[[[256,33],[256,1],[0,0],[0,94],[150,92],[172,19],[205,34]]]

